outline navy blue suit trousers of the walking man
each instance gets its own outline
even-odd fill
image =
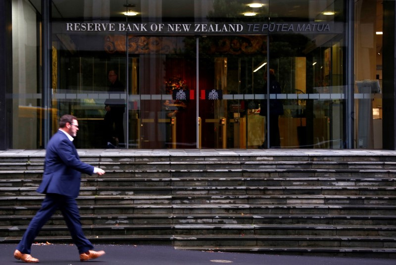
[[[67,227],[74,244],[78,248],[79,254],[94,249],[92,243],[83,233],[76,199],[59,194],[46,195],[46,198],[41,205],[41,209],[30,221],[29,226],[16,249],[22,253],[30,254],[34,239],[39,234],[43,225],[46,224],[57,209],[62,212],[63,218],[66,221]]]

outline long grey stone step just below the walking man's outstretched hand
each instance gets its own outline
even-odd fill
[[[11,187],[38,187],[41,183],[40,179],[31,178],[13,178],[0,179],[0,188]],[[261,187],[272,188],[273,186],[281,186],[285,188],[295,187],[318,187],[327,189],[356,189],[367,187],[381,188],[381,187],[395,187],[396,178],[382,177],[382,178],[317,178],[317,177],[231,177],[231,176],[217,176],[217,177],[114,177],[114,178],[83,178],[81,182],[82,187],[164,187],[164,188],[179,188],[179,187],[210,187],[216,188],[219,186],[225,187]]]

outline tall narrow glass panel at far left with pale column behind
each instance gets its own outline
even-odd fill
[[[12,148],[43,148],[41,6],[12,0]],[[56,119],[56,113],[52,113]],[[24,130],[20,130],[24,124]]]

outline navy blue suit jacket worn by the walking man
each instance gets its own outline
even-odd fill
[[[81,172],[92,175],[94,167],[82,162],[73,142],[62,131],[57,131],[48,142],[43,181],[37,192],[77,198]]]

